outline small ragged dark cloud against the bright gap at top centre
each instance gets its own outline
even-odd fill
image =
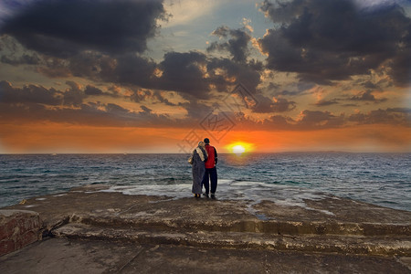
[[[207,47],[208,52],[213,50],[227,50],[234,61],[247,61],[249,55],[248,42],[251,40],[251,36],[248,34],[245,28],[230,29],[227,26],[220,26],[212,32],[212,35],[220,38],[231,38],[229,38],[228,41],[224,43],[211,43],[211,45]]]

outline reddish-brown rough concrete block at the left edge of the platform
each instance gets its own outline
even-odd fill
[[[37,212],[0,210],[0,256],[41,239],[42,222]]]

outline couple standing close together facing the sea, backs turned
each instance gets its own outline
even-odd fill
[[[192,192],[196,198],[201,197],[203,192],[203,185],[205,187],[205,196],[208,197],[210,193],[211,181],[211,197],[216,198],[216,163],[217,153],[216,148],[210,145],[210,140],[205,138],[204,142],[198,142],[198,146],[195,148],[193,155],[188,160],[193,164],[193,188]]]

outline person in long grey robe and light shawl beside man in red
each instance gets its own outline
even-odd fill
[[[208,154],[205,151],[205,143],[198,142],[198,146],[193,151],[192,156],[192,171],[193,171],[193,188],[192,193],[196,198],[201,197],[202,185],[204,174],[205,174],[205,161],[207,161]]]

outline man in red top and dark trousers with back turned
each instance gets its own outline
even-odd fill
[[[216,185],[217,185],[217,175],[216,175],[216,163],[217,163],[217,153],[216,148],[210,145],[210,140],[205,138],[205,151],[208,153],[208,159],[205,162],[205,175],[203,178],[203,184],[205,187],[205,196],[208,197],[210,190],[209,181],[211,181],[211,197],[216,198]]]

